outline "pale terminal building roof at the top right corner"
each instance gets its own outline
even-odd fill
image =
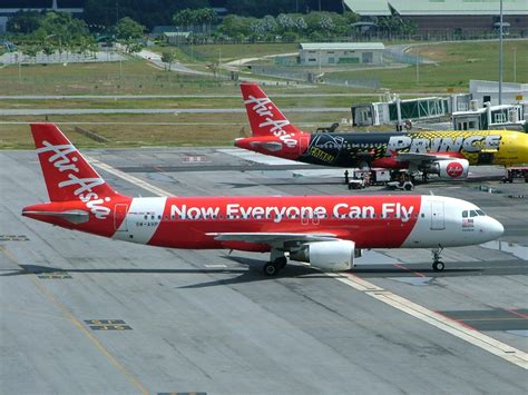
[[[344,0],[360,16],[498,16],[500,0]],[[528,0],[503,0],[502,13],[528,14]]]

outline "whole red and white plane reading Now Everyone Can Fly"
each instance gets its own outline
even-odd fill
[[[22,215],[67,229],[169,248],[271,253],[266,275],[292,260],[348,270],[363,248],[433,248],[493,240],[502,225],[440,196],[129,197],[116,192],[52,124],[31,125],[50,201]]]

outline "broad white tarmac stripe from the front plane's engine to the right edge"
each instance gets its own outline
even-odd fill
[[[456,320],[449,319],[439,313],[430,310],[429,308],[405,299],[404,297],[398,296],[370,282],[354,276],[353,274],[340,273],[326,275],[354,289],[363,292],[365,295],[383,302],[389,306],[398,308],[399,310],[421,319],[424,323],[436,326],[443,332],[520,366],[524,369],[528,369],[528,354],[520,349],[514,348],[476,329],[471,329]]]

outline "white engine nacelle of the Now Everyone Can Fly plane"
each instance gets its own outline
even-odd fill
[[[354,267],[356,254],[354,241],[319,241],[309,243],[301,249],[291,251],[290,259],[305,261],[323,270],[340,271]]]

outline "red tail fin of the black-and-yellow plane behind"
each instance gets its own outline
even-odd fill
[[[241,90],[253,136],[280,137],[301,132],[290,124],[257,83],[242,82]]]

